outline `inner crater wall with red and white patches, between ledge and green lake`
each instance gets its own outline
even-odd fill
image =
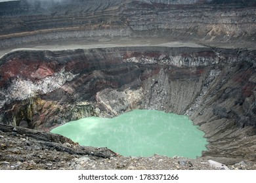
[[[200,125],[209,141],[203,156],[255,161],[255,55],[152,46],[11,52],[1,58],[1,122],[48,131],[157,109]]]

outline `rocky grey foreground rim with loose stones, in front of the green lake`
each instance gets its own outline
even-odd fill
[[[0,169],[2,170],[211,170],[205,158],[124,157],[108,148],[80,146],[61,135],[22,127],[0,125]],[[256,163],[241,161],[228,169],[256,169]]]

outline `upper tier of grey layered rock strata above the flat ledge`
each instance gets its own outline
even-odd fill
[[[154,36],[255,47],[255,7],[255,1],[224,0],[5,2],[0,6],[0,46]]]

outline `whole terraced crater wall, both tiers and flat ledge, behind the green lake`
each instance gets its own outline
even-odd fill
[[[256,161],[255,1],[37,2],[0,3],[3,126],[162,110],[200,125],[203,158]]]

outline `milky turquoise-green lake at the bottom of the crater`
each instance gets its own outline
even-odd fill
[[[187,116],[158,110],[133,110],[116,118],[83,118],[51,132],[83,146],[108,147],[123,156],[196,158],[207,144],[203,131]]]

